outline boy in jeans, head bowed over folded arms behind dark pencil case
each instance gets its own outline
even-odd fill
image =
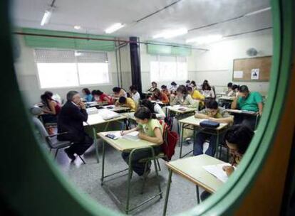
[[[227,123],[232,124],[234,122],[234,117],[231,116],[228,112],[226,112],[221,107],[218,107],[217,102],[214,99],[210,99],[206,102],[206,108],[202,109],[200,112],[195,114],[195,118],[197,119],[208,119],[209,121],[215,121],[219,123]],[[205,154],[209,156],[214,156],[217,136],[205,133],[198,133],[197,139],[195,139],[194,143],[194,156],[200,155],[203,153],[203,144],[206,139],[209,139],[209,148],[205,152]],[[219,139],[221,140],[221,139]]]

